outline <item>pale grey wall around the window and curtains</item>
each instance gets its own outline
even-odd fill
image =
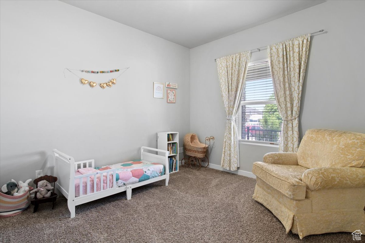
[[[325,29],[311,38],[303,85],[300,136],[307,129],[328,128],[365,133],[365,1],[327,1],[266,24],[227,36],[190,51],[190,130],[214,136],[210,162],[220,165],[226,114],[215,58],[251,50]],[[251,61],[267,58],[254,52]],[[241,170],[251,172],[277,148],[240,144]]]

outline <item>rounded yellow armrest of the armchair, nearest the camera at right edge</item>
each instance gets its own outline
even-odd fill
[[[365,187],[365,168],[324,167],[303,173],[301,180],[311,191],[331,188]]]

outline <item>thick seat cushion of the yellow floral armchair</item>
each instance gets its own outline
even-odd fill
[[[301,177],[306,171],[299,165],[276,165],[254,162],[252,172],[261,180],[294,200],[306,198],[306,184]]]

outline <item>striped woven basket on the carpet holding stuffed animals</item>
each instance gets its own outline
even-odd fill
[[[0,192],[0,217],[10,217],[18,215],[27,209],[30,205],[29,192],[33,190],[29,187],[29,190],[19,196],[10,196]]]

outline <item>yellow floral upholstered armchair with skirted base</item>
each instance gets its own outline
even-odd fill
[[[268,153],[254,162],[253,199],[300,239],[365,232],[365,134],[307,130],[297,153]]]

